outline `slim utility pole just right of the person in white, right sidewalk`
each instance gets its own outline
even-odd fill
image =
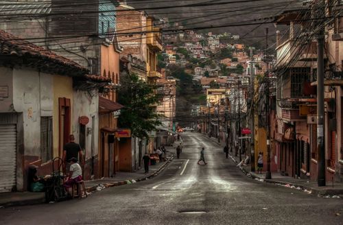
[[[265,28],[265,57],[267,58],[267,86],[266,86],[266,107],[265,107],[265,120],[267,122],[267,172],[265,173],[265,179],[272,179],[272,172],[270,171],[270,96],[269,96],[269,87],[270,87],[270,80],[269,80],[269,59],[268,59],[268,27]]]

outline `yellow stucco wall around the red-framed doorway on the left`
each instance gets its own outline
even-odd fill
[[[73,118],[73,80],[69,77],[64,77],[61,75],[54,75],[54,112],[53,112],[53,156],[62,156],[62,150],[59,151],[59,106],[58,106],[58,98],[59,97],[66,97],[70,99],[71,104],[71,119]]]

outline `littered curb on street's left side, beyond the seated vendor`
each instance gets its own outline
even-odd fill
[[[158,174],[161,174],[161,171],[163,171],[165,169],[165,167],[167,167],[167,165],[171,161],[173,161],[173,159],[174,159],[174,155],[171,155],[171,157],[163,165],[161,165],[161,167],[159,167],[157,171],[154,171],[154,173],[150,174],[149,176],[145,176],[143,178],[138,178],[138,179],[132,179],[132,180],[122,180],[122,181],[116,181],[116,182],[111,182],[111,183],[98,184],[98,185],[94,185],[92,187],[86,187],[86,191],[89,193],[92,193],[94,191],[97,191],[98,187],[100,187],[99,191],[102,191],[103,189],[106,189],[108,187],[116,187],[116,186],[121,186],[121,185],[131,185],[132,183],[141,182],[144,180],[149,180],[151,178],[154,178],[155,176],[158,176]]]

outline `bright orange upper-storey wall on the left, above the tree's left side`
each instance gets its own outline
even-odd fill
[[[120,54],[115,51],[114,45],[109,45],[108,47],[102,45],[102,64],[101,64],[101,74],[110,78],[114,84],[119,83],[119,58]],[[108,99],[113,101],[117,100],[115,93],[110,93]]]

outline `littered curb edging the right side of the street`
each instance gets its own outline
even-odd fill
[[[212,141],[213,143],[216,143],[219,146],[220,143],[217,143],[217,141],[214,141],[213,139],[207,137],[205,134],[203,134],[204,137],[206,137],[207,139],[209,139],[210,141]],[[228,156],[230,156],[231,160],[234,163],[239,163],[230,153],[228,154]],[[263,178],[259,178],[258,176],[255,176],[254,174],[251,174],[250,171],[247,171],[246,169],[244,169],[244,167],[239,167],[239,169],[249,178],[252,178],[254,180],[259,180],[260,182],[266,182],[268,184],[273,184],[273,185],[279,185],[282,187],[288,187],[288,188],[292,188],[292,189],[296,189],[298,191],[305,191],[306,193],[311,193],[312,195],[316,195],[318,197],[321,196],[336,196],[336,195],[341,195],[343,194],[343,189],[327,189],[327,190],[318,190],[318,189],[314,189],[311,187],[305,187],[303,185],[296,185],[292,182],[283,182],[283,181],[278,181],[278,180],[268,180],[268,179],[263,179]],[[285,186],[287,185],[287,186]],[[299,189],[300,188],[300,189]]]

